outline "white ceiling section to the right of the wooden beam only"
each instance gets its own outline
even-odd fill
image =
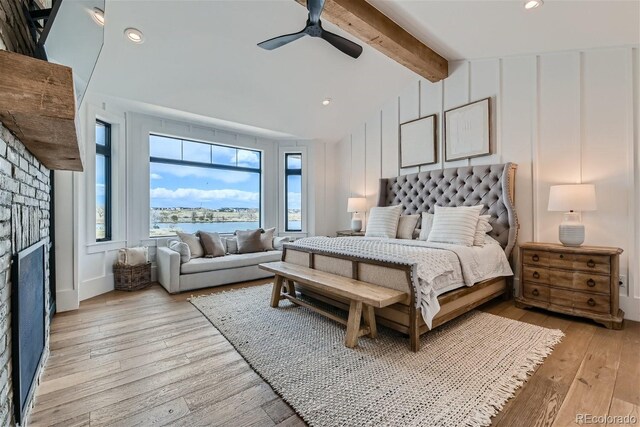
[[[640,43],[638,0],[370,0],[449,61]]]

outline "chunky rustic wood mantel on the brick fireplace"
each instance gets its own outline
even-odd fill
[[[0,121],[49,169],[82,171],[71,68],[0,50]]]

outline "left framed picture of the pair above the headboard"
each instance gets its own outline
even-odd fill
[[[431,165],[438,161],[436,115],[400,124],[400,167]]]

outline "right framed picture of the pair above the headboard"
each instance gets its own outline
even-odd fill
[[[491,98],[444,112],[445,161],[491,154]]]

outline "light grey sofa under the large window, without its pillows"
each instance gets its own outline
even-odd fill
[[[171,294],[229,283],[273,277],[258,267],[280,261],[282,251],[227,254],[217,258],[192,258],[180,264],[180,254],[160,246],[156,254],[158,281]]]

